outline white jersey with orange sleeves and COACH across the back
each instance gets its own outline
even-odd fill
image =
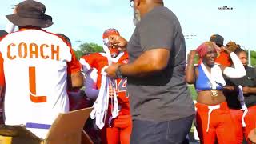
[[[58,114],[69,111],[67,75],[81,69],[73,50],[57,35],[27,29],[3,38],[0,54],[5,124],[25,125],[45,138]]]

